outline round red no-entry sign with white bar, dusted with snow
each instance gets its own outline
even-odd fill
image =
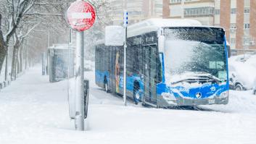
[[[95,10],[86,1],[75,1],[67,9],[67,22],[74,30],[88,30],[95,21]]]

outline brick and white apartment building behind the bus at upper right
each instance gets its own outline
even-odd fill
[[[231,48],[256,49],[255,0],[162,0],[164,18],[189,18],[224,27]]]

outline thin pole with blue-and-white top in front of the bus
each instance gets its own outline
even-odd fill
[[[127,26],[128,26],[128,12],[125,11],[123,13],[123,26],[125,27],[125,40],[124,40],[124,46],[123,46],[123,103],[126,106],[126,48],[127,48]]]

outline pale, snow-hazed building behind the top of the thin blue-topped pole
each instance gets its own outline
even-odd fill
[[[123,11],[128,10],[128,22],[132,24],[148,18],[162,17],[162,0],[112,0],[112,25],[123,24]]]

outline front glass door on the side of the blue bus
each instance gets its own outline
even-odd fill
[[[157,45],[144,46],[144,101],[157,104]]]

